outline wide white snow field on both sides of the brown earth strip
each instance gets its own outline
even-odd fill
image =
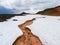
[[[32,25],[28,26],[42,43],[60,45],[60,17],[41,15],[15,16],[8,21],[0,22],[0,45],[12,45],[15,39],[22,35],[18,25],[34,17],[46,17],[37,18]],[[19,21],[12,21],[13,19]]]

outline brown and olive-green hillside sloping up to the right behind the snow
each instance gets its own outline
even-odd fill
[[[37,12],[36,14],[50,15],[50,16],[60,16],[60,6],[45,9],[43,11]]]

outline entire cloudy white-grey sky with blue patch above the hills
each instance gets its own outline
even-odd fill
[[[36,12],[60,5],[60,0],[0,0],[0,14]]]

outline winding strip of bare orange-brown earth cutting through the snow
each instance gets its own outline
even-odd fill
[[[43,45],[38,36],[34,35],[27,25],[32,24],[33,20],[28,20],[25,23],[18,25],[22,30],[23,35],[19,36],[12,45]]]

